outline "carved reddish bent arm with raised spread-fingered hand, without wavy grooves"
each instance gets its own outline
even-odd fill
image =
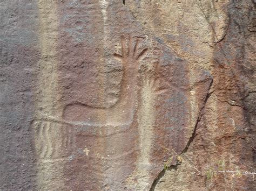
[[[119,100],[111,108],[93,108],[83,103],[70,103],[66,105],[63,118],[71,122],[83,122],[89,125],[123,125],[132,122],[137,99],[137,75],[139,62],[147,54],[147,48],[140,47],[140,37],[121,36],[122,54],[113,56],[123,64],[123,77],[121,82]],[[116,95],[117,91],[111,94]],[[100,117],[97,117],[98,114]]]

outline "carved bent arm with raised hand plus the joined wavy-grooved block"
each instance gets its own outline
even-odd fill
[[[148,51],[140,45],[143,40],[141,37],[122,36],[120,40],[122,54],[118,52],[113,54],[114,58],[123,65],[120,97],[113,107],[93,108],[82,103],[71,103],[64,108],[62,118],[41,113],[38,119],[33,121],[31,125],[36,137],[36,151],[39,158],[45,160],[68,158],[76,150],[75,132],[87,132],[86,137],[102,137],[99,128],[109,129],[107,131],[109,133],[103,136],[122,133],[129,128],[137,107],[139,62],[145,58]],[[117,92],[112,91],[112,94]]]

